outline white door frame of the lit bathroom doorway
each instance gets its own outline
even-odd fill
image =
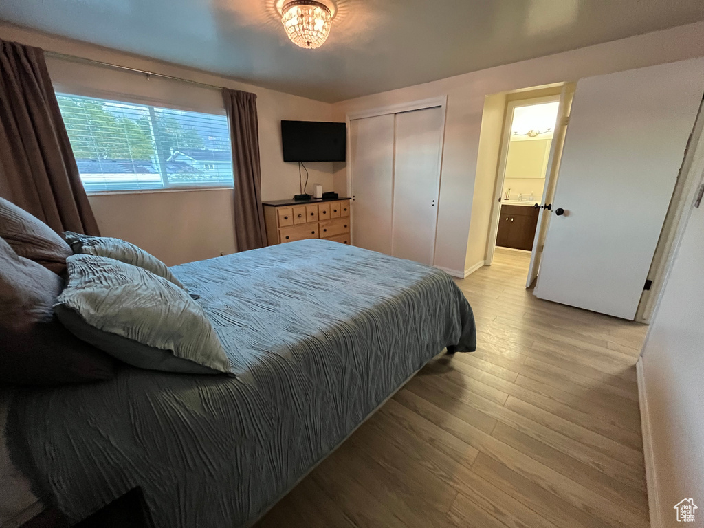
[[[561,89],[560,84],[560,89]],[[501,204],[503,202],[503,183],[506,177],[506,163],[508,161],[508,146],[511,141],[511,125],[513,124],[513,111],[518,106],[534,106],[536,104],[553,103],[560,100],[560,94],[540,95],[532,97],[530,92],[522,92],[523,99],[511,99],[506,101],[506,108],[503,115],[503,133],[501,134],[501,149],[498,158],[498,169],[496,170],[496,184],[494,185],[494,199],[491,208],[491,221],[489,222],[489,237],[486,241],[486,253],[484,255],[484,265],[490,266],[494,263],[494,250],[496,249],[496,237],[498,236],[498,223],[501,217]],[[552,147],[552,142],[551,142]],[[545,184],[548,184],[546,175]],[[544,193],[544,189],[543,189]],[[542,197],[541,197],[542,199]]]

